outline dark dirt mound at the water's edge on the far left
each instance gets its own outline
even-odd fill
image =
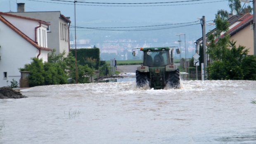
[[[11,87],[0,87],[0,99],[19,99],[25,97],[20,92],[12,90]]]

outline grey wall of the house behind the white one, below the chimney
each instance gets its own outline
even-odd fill
[[[62,53],[65,50],[66,55],[69,52],[69,42],[61,40],[61,27],[60,23],[69,24],[60,18],[60,12],[12,12],[10,14],[15,14],[23,17],[30,17],[34,19],[40,19],[50,23],[50,31],[47,32],[48,47],[56,49],[56,54]],[[63,38],[62,38],[63,39]]]

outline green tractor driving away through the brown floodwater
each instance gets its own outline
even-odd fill
[[[135,56],[134,50],[133,56]],[[180,71],[173,64],[173,48],[140,47],[140,50],[144,54],[143,63],[137,67],[136,71],[137,87],[149,85],[150,88],[158,90],[164,89],[168,85],[171,88],[180,88]],[[176,49],[176,51],[178,54],[180,53],[179,49]]]

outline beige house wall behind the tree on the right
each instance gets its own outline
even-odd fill
[[[238,47],[239,45],[245,46],[246,48],[249,49],[249,55],[254,54],[254,40],[253,40],[253,30],[251,30],[251,26],[248,25],[242,30],[240,30],[238,33],[235,35],[232,35],[230,37],[230,40],[237,41],[236,46]]]

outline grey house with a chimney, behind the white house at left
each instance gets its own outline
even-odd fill
[[[60,11],[25,12],[24,5],[25,3],[17,3],[17,12],[9,12],[9,14],[40,19],[50,23],[51,25],[48,26],[46,31],[48,46],[56,49],[56,54],[65,51],[67,55],[69,52],[69,26],[71,23],[69,17],[65,17]]]

